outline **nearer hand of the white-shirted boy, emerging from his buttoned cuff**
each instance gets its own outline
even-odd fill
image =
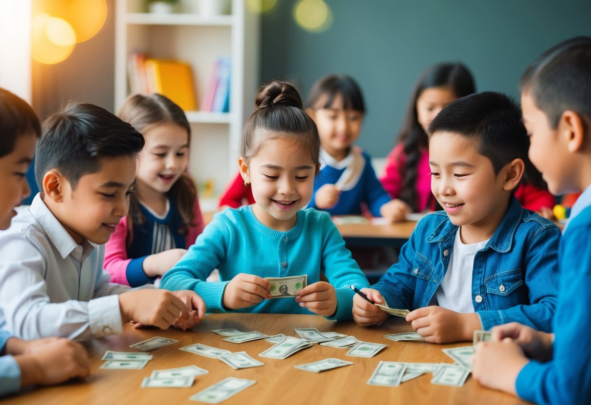
[[[124,322],[133,319],[136,328],[154,325],[167,329],[178,316],[189,318],[189,309],[176,295],[168,290],[133,290],[119,295],[119,308]],[[180,314],[180,315],[179,315]]]

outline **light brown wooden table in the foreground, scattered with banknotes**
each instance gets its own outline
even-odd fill
[[[271,343],[258,340],[243,344],[222,341],[222,336],[210,332],[212,329],[236,328],[240,331],[259,331],[268,335],[283,333],[296,335],[294,328],[317,328],[319,331],[336,331],[354,335],[360,340],[387,344],[388,347],[372,358],[350,357],[347,350],[314,345],[285,360],[259,357],[258,354]],[[352,321],[327,321],[318,315],[284,315],[223,313],[207,315],[206,319],[191,331],[183,332],[170,328],[161,331],[156,328],[133,329],[127,324],[123,335],[113,335],[87,342],[91,357],[91,374],[85,380],[72,381],[60,386],[41,387],[17,396],[2,399],[2,404],[27,405],[74,405],[74,404],[191,404],[189,397],[223,380],[226,377],[256,380],[223,404],[518,404],[524,403],[517,397],[480,386],[470,376],[463,387],[446,387],[430,384],[431,374],[424,374],[399,387],[368,386],[379,361],[420,361],[447,362],[442,348],[457,345],[436,345],[422,342],[394,342],[384,338],[385,334],[409,331],[410,326],[401,318],[390,318],[381,325],[362,328]],[[142,370],[102,370],[100,358],[106,350],[134,351],[130,344],[162,336],[178,339],[177,343],[151,351],[154,360]],[[265,363],[262,367],[233,370],[222,361],[202,357],[178,350],[178,348],[203,343],[233,352],[246,351],[256,360]],[[355,364],[323,373],[298,370],[294,365],[336,357],[353,361]],[[190,364],[209,370],[199,375],[190,388],[141,388],[142,378],[152,370],[183,367]]]

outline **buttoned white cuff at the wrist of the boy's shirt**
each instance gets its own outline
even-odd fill
[[[95,338],[123,333],[119,296],[108,295],[88,302],[90,332]]]

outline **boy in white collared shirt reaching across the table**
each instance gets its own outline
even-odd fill
[[[89,339],[121,333],[131,319],[165,329],[203,318],[192,291],[130,290],[103,270],[102,244],[127,214],[142,146],[131,125],[93,104],[48,118],[35,152],[43,192],[0,232],[0,328]]]

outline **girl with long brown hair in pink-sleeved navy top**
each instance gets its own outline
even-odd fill
[[[105,246],[111,281],[137,287],[170,270],[203,231],[197,189],[187,172],[191,126],[161,94],[128,97],[119,118],[144,135],[129,214]]]

